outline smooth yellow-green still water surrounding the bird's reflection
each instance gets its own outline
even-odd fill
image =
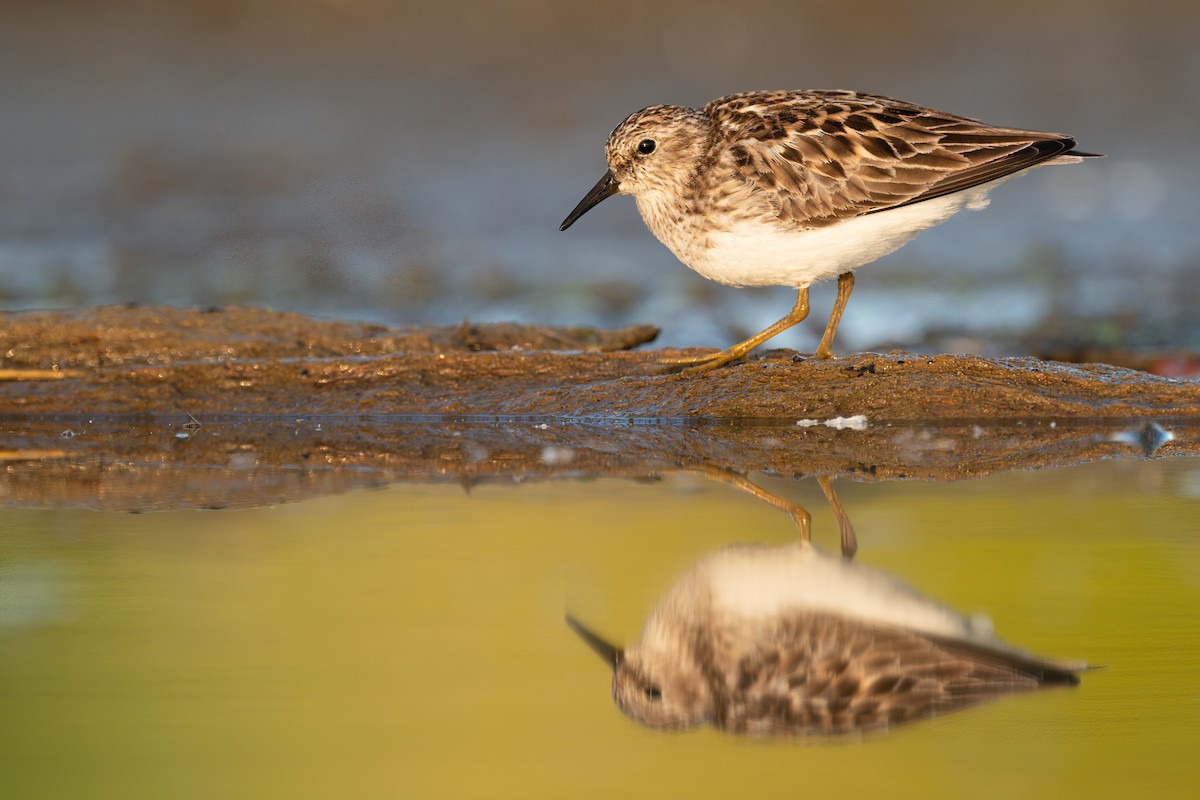
[[[10,479],[34,468],[8,458]],[[863,735],[640,726],[566,613],[632,645],[697,561],[736,542],[797,546],[781,509],[808,509],[814,546],[839,558],[816,480],[749,477],[764,492],[664,468],[140,515],[5,494],[5,795],[1097,798],[1195,784],[1200,462],[833,481],[853,569],[1094,666],[1078,686]],[[152,486],[154,470],[139,480]]]

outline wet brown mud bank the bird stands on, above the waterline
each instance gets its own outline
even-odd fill
[[[658,363],[678,350],[625,349],[654,335],[649,326],[401,330],[252,308],[6,313],[0,414],[1200,416],[1200,384],[1105,365],[898,351],[816,361],[776,350],[688,377]]]

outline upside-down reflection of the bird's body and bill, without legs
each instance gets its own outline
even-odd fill
[[[613,668],[620,709],[659,729],[862,732],[1073,685],[1085,668],[1008,646],[986,620],[806,542],[703,559],[629,649],[568,622]]]

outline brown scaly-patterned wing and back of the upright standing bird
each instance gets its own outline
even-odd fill
[[[779,218],[804,228],[967,190],[1075,146],[1061,133],[850,91],[732,95],[704,113],[715,172],[749,181]]]

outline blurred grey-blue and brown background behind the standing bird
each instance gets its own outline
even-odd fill
[[[841,350],[1200,347],[1190,0],[0,6],[0,307],[252,303],[389,324],[654,323],[725,345],[787,289],[684,269],[616,198],[558,223],[656,102],[852,88],[1074,136],[859,271]],[[817,323],[780,337],[815,345]]]

